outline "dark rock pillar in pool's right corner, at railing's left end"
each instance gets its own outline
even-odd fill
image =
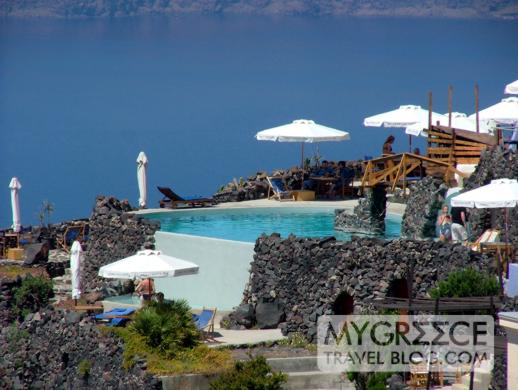
[[[387,193],[384,186],[365,189],[365,197],[358,201],[353,212],[335,211],[335,229],[341,231],[383,234],[387,212]]]

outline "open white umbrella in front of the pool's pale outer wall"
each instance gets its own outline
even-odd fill
[[[198,270],[198,265],[190,261],[167,256],[160,251],[143,250],[101,267],[99,276],[113,279],[172,278],[194,275]]]

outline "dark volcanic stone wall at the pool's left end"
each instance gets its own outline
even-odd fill
[[[154,234],[160,229],[160,223],[129,214],[132,210],[127,201],[97,197],[90,217],[82,275],[85,291],[115,287],[114,282],[97,276],[103,265],[134,255],[143,248],[154,248]]]

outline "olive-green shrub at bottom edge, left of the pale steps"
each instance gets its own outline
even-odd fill
[[[279,390],[286,374],[272,372],[263,356],[236,362],[234,368],[210,384],[211,390]]]

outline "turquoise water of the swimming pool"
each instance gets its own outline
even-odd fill
[[[182,210],[147,214],[145,218],[157,219],[161,230],[234,241],[255,242],[263,233],[290,233],[300,237],[335,236],[349,240],[351,235],[335,231],[332,208],[257,208],[257,209],[207,209]],[[401,231],[401,217],[389,215],[386,219],[385,237],[397,238]]]

